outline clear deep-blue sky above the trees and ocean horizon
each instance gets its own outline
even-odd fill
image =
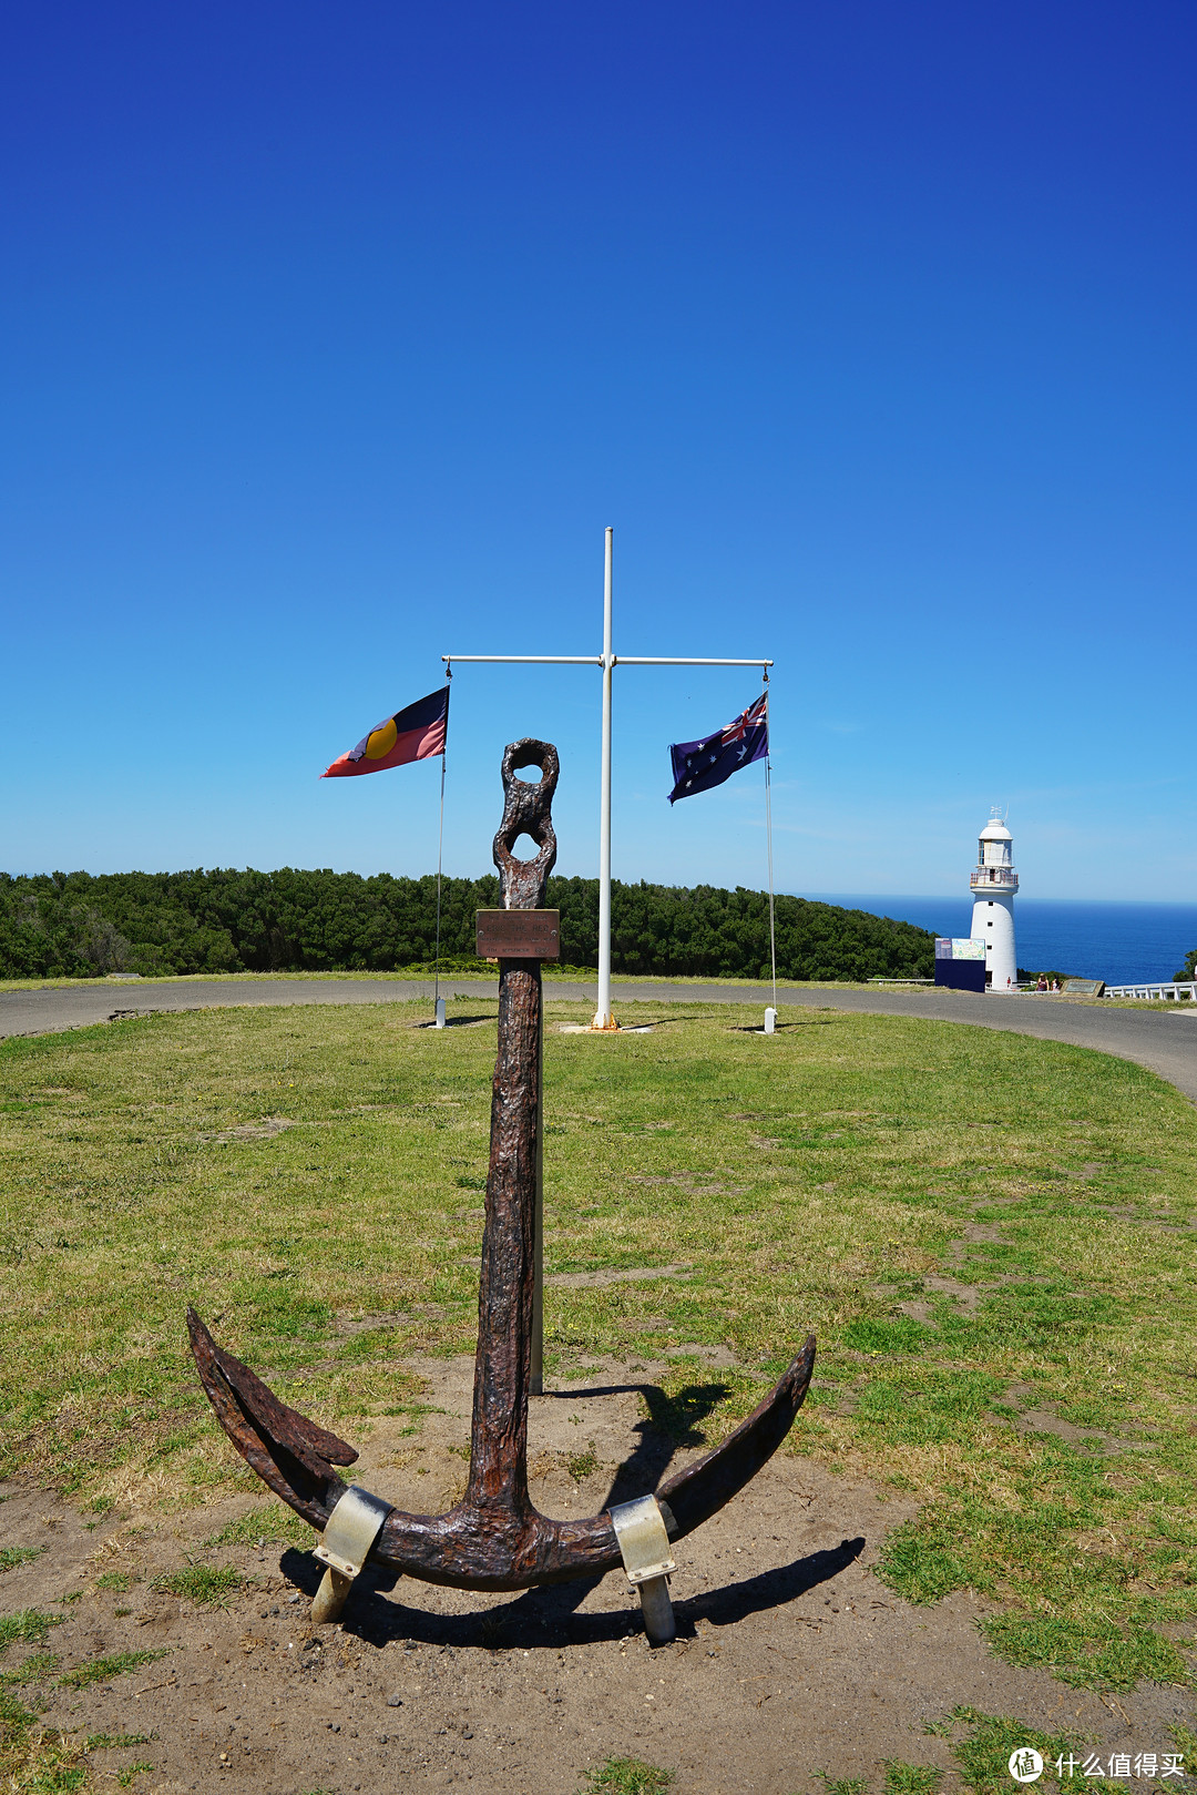
[[[1197,887],[1190,0],[9,13],[0,867],[434,865],[445,650],[768,653],[786,890]],[[750,673],[616,673],[616,874],[759,885]],[[598,671],[454,680],[598,867]]]

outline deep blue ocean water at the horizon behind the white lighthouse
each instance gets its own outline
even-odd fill
[[[849,910],[870,910],[917,923],[937,935],[967,935],[971,898],[861,898],[851,892],[802,892]],[[1172,978],[1197,948],[1197,903],[1084,903],[1071,898],[1016,898],[1018,964],[1077,978],[1129,985]]]

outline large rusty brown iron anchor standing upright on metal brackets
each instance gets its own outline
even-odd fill
[[[538,783],[517,779],[538,766]],[[551,912],[546,881],[556,860],[551,804],[556,749],[531,738],[502,756],[506,804],[494,858],[504,910]],[[537,844],[515,858],[520,835]],[[515,917],[510,919],[515,924]],[[533,917],[520,919],[520,926]],[[535,942],[535,932],[526,937]],[[519,944],[519,941],[517,941]],[[540,1321],[540,957],[499,959],[499,1052],[490,1109],[490,1174],[479,1283],[470,1477],[445,1515],[407,1515],[346,1484],[339,1467],[357,1452],[287,1407],[255,1373],[217,1346],[188,1309],[192,1353],[215,1416],[262,1481],[319,1535],[327,1565],[312,1619],[336,1619],[366,1562],[456,1589],[513,1590],[569,1578],[598,1578],[623,1563],[641,1594],[653,1642],[673,1639],[668,1576],[671,1542],[723,1508],[777,1450],[802,1405],[815,1368],[815,1335],[770,1395],[712,1452],[660,1488],[589,1520],[551,1520],[528,1493],[528,1398],[538,1373]]]

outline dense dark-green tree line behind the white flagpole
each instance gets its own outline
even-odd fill
[[[441,964],[477,969],[474,912],[499,880],[443,880]],[[598,966],[598,880],[551,878],[562,964]],[[782,978],[930,978],[935,937],[913,923],[777,898]],[[436,951],[436,878],[237,871],[0,874],[0,976],[127,971],[400,971]],[[612,887],[617,973],[765,978],[768,894],[716,885]]]

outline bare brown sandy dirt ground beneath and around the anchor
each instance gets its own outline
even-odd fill
[[[472,1361],[418,1370],[443,1413],[416,1438],[402,1420],[375,1423],[354,1477],[434,1511],[463,1486]],[[546,1513],[639,1495],[687,1456],[642,1420],[639,1389],[660,1370],[608,1364],[533,1400],[533,1499]],[[799,1445],[800,1427],[799,1416]],[[576,1483],[565,1461],[590,1445],[596,1468]],[[43,1686],[47,1727],[151,1736],[90,1757],[117,1773],[153,1763],[129,1782],[144,1791],[379,1795],[474,1782],[495,1795],[574,1795],[589,1768],[617,1756],[675,1770],[677,1795],[797,1795],[815,1791],[820,1772],[879,1786],[885,1759],[949,1768],[948,1743],[922,1725],[958,1703],[1098,1752],[1161,1752],[1168,1725],[1192,1720],[1179,1689],[1102,1698],[1010,1669],[976,1632],[974,1598],[901,1601],[872,1565],[910,1504],[786,1454],[678,1542],[678,1639],[660,1650],[646,1644],[623,1574],[470,1596],[366,1572],[345,1621],[316,1628],[309,1553],[203,1545],[239,1515],[273,1513],[273,1499],[95,1522],[20,1483],[0,1493],[4,1544],[41,1547],[4,1576],[2,1607],[63,1616],[48,1639],[57,1675],[97,1655],[163,1651],[86,1689]],[[246,1581],[223,1608],[154,1594],[153,1578],[187,1558],[232,1565]],[[97,1589],[113,1571],[135,1580],[126,1592]],[[27,1650],[9,1648],[5,1668]]]

